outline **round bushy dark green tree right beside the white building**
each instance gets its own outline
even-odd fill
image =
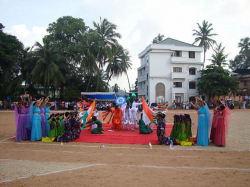
[[[209,65],[200,71],[201,77],[198,78],[198,91],[200,94],[209,96],[209,100],[214,96],[228,95],[236,93],[239,81],[230,75],[228,70],[220,66]]]

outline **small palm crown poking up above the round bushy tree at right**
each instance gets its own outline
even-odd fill
[[[214,54],[212,55],[212,59],[209,59],[213,65],[216,65],[216,66],[225,66],[225,65],[228,65],[226,63],[226,59],[228,57],[228,55],[225,55],[224,54],[224,50],[225,50],[225,47],[222,47],[222,43],[220,43],[219,45],[216,44],[216,48],[214,50]]]

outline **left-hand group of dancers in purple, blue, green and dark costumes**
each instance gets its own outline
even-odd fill
[[[49,98],[32,101],[21,97],[15,103],[16,141],[63,141],[80,137],[81,117],[77,112],[50,114]]]

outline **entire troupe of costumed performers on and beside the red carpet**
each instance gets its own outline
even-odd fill
[[[139,128],[139,133],[150,134],[152,127],[157,126],[157,137],[161,145],[184,145],[191,146],[195,143],[198,146],[208,146],[209,140],[217,146],[226,146],[228,134],[230,111],[228,105],[220,100],[214,108],[214,115],[211,121],[207,103],[201,97],[196,96],[195,103],[190,105],[197,110],[198,128],[197,136],[192,136],[192,119],[190,115],[175,115],[174,125],[169,137],[165,137],[165,114],[164,112],[151,112],[155,115],[155,121],[145,124],[142,113],[141,102],[133,101],[130,104],[121,106],[108,104],[106,112],[102,116],[103,121],[111,113],[107,123],[112,122],[112,128],[118,130],[135,130]],[[80,137],[81,128],[91,128],[92,134],[102,134],[103,126],[98,120],[98,110],[93,112],[91,120],[83,124],[83,115],[79,116],[76,112],[52,113],[50,108],[53,106],[49,98],[41,98],[32,101],[30,96],[21,97],[21,101],[15,103],[16,117],[16,141],[59,141],[69,142]],[[211,132],[211,133],[210,133]]]

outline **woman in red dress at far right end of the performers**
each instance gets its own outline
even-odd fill
[[[214,144],[217,146],[226,146],[230,116],[228,106],[225,106],[224,102],[221,101],[221,105],[218,107],[216,130],[214,133]]]

